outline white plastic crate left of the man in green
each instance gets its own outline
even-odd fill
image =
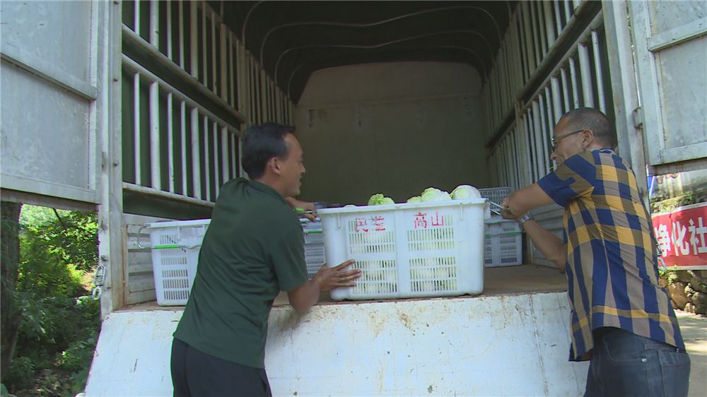
[[[152,271],[160,306],[183,306],[197,274],[199,250],[210,219],[149,223]]]

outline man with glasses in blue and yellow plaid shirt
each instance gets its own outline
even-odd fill
[[[554,127],[554,172],[503,200],[547,259],[565,270],[571,361],[591,360],[585,396],[687,396],[690,359],[658,285],[655,237],[636,176],[614,153],[609,119],[575,109]],[[565,209],[564,239],[528,211]]]

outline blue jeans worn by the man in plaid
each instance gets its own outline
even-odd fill
[[[597,328],[584,396],[687,396],[689,378],[684,350],[619,328]]]

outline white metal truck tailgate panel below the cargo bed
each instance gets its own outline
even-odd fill
[[[274,396],[580,396],[566,292],[275,307],[266,367]],[[86,396],[171,396],[181,310],[113,312]]]

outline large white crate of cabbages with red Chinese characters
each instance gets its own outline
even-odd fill
[[[327,265],[348,259],[362,270],[334,300],[480,294],[484,290],[484,198],[327,208]]]

